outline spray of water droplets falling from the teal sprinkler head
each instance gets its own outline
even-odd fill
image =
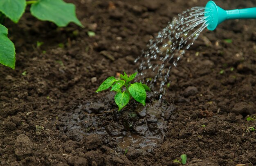
[[[148,49],[135,62],[140,63],[139,79],[154,88],[160,82],[159,91],[164,93],[171,68],[177,65],[186,49],[193,44],[199,34],[208,26],[204,16],[205,7],[193,7],[178,14],[178,18],[149,41]]]

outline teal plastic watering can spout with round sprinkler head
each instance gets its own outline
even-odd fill
[[[241,18],[256,18],[256,7],[247,9],[234,9],[224,10],[218,7],[215,2],[210,0],[207,2],[204,10],[204,16],[206,17],[207,29],[213,31],[218,24],[229,19],[241,19]]]

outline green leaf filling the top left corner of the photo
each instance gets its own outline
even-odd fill
[[[25,12],[26,0],[0,0],[0,11],[17,23]]]

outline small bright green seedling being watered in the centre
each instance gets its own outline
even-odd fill
[[[146,91],[150,91],[149,87],[146,84],[141,84],[139,82],[135,82],[130,84],[137,75],[133,73],[128,77],[126,72],[124,71],[124,75],[120,75],[121,80],[117,80],[115,77],[108,77],[97,89],[96,92],[104,91],[110,87],[110,91],[115,91],[117,94],[115,95],[115,102],[118,106],[118,111],[120,111],[124,106],[128,104],[130,99],[133,97],[137,102],[146,104]]]

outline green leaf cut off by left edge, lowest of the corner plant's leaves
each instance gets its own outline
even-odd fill
[[[8,29],[0,24],[0,63],[15,68],[15,47],[7,37]]]

